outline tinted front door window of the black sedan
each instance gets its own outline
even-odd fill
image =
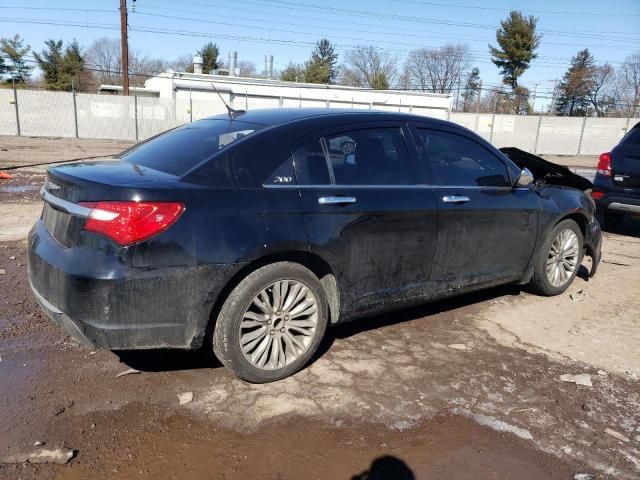
[[[438,185],[510,186],[506,165],[482,145],[454,133],[417,129],[425,170]]]

